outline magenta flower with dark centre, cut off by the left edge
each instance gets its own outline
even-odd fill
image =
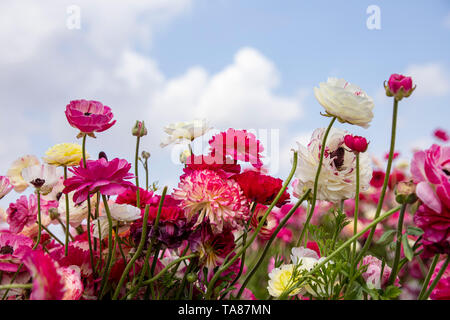
[[[33,240],[20,234],[0,231],[0,271],[16,272],[20,259]]]

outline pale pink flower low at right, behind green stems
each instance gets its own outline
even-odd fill
[[[362,265],[367,265],[367,270],[362,274],[362,277],[367,283],[369,289],[381,289],[386,288],[387,282],[391,275],[392,269],[385,265],[383,274],[381,274],[382,261],[374,256],[365,256],[361,262]],[[398,286],[400,280],[397,277],[394,281],[394,285]]]

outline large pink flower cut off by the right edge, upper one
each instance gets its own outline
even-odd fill
[[[417,183],[416,194],[430,209],[441,213],[450,208],[450,146],[433,144],[417,151],[411,161],[411,174]]]

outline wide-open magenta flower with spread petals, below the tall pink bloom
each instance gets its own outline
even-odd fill
[[[64,181],[63,193],[75,190],[73,201],[76,204],[97,191],[108,196],[121,194],[134,186],[125,181],[134,177],[128,172],[130,168],[131,164],[127,160],[118,158],[111,161],[104,158],[88,160],[86,167],[80,162],[80,166],[69,169],[74,175]]]

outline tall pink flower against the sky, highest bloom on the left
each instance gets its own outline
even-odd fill
[[[80,130],[79,138],[84,134],[95,137],[94,132],[103,132],[116,123],[111,121],[114,116],[111,108],[93,100],[71,101],[65,113],[69,124]]]

